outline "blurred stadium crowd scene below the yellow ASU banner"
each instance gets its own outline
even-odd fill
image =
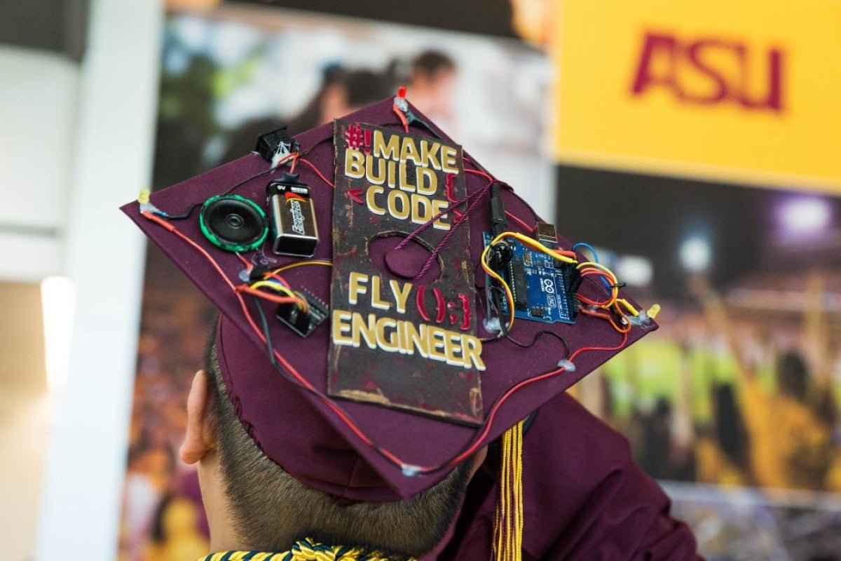
[[[659,331],[576,391],[649,474],[700,484],[666,489],[701,550],[835,558],[841,201],[559,167],[558,217],[663,306]]]

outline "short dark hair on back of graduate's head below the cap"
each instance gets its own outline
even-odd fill
[[[230,515],[249,548],[283,551],[311,537],[400,558],[420,557],[442,541],[467,490],[471,460],[409,501],[363,502],[327,495],[294,479],[248,436],[220,373],[215,330],[205,352],[205,370]]]

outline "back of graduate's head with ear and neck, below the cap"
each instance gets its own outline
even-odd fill
[[[193,381],[181,456],[199,463],[214,549],[278,551],[311,537],[406,556],[421,556],[442,540],[481,460],[460,464],[410,501],[352,501],[310,489],[249,436],[228,397],[213,343],[205,370]]]

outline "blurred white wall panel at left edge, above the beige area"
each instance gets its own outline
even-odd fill
[[[0,45],[0,279],[61,272],[79,67]]]

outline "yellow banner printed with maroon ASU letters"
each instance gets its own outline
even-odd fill
[[[841,0],[561,0],[558,161],[841,193]]]

